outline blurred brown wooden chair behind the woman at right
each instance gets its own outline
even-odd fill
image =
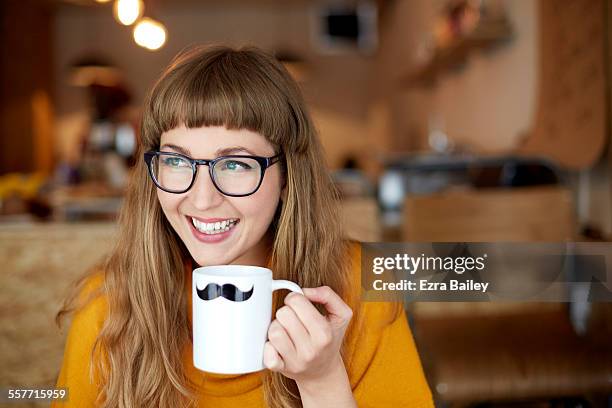
[[[405,202],[406,242],[574,240],[568,190],[452,191]],[[578,336],[565,303],[414,303],[414,333],[443,403],[612,392],[612,347]]]

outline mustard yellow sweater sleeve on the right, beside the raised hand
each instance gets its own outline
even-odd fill
[[[361,292],[361,250],[353,247],[353,277]],[[403,305],[357,302],[347,341],[347,372],[360,408],[433,407],[431,391]]]

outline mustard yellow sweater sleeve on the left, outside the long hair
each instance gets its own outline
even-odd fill
[[[99,286],[101,276],[90,278],[81,299]],[[98,394],[97,376],[90,378],[90,360],[95,340],[106,315],[106,302],[101,296],[88,302],[72,318],[64,348],[62,367],[56,388],[67,388],[68,399],[51,403],[54,407],[93,407]]]

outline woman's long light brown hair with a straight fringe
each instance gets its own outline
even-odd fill
[[[119,238],[99,265],[108,315],[94,350],[103,350],[105,358],[92,352],[91,367],[100,374],[103,407],[195,405],[197,389],[181,359],[192,341],[184,290],[184,262],[190,255],[161,210],[143,160],[144,151],[159,148],[163,132],[182,124],[246,128],[284,152],[286,194],[271,225],[275,279],[302,287],[328,285],[349,296],[337,194],[298,85],[274,57],[257,48],[183,52],[145,102]],[[57,314],[58,324],[82,307],[76,299],[96,269],[75,283]],[[275,297],[274,310],[281,303]],[[270,407],[301,406],[295,381],[279,373],[265,371],[263,390]]]

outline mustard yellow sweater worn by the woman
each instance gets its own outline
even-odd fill
[[[360,293],[361,249],[351,248],[355,282],[353,294]],[[185,268],[191,321],[191,264]],[[92,280],[94,288],[102,276]],[[346,369],[353,395],[360,408],[433,407],[431,392],[423,375],[419,355],[406,316],[390,302],[364,302],[347,339]],[[89,381],[89,358],[93,343],[107,313],[107,303],[98,297],[75,313],[64,351],[57,387],[69,388],[69,400],[51,407],[90,407],[98,392]],[[350,356],[350,357],[349,357]],[[265,407],[261,372],[242,375],[220,375],[196,369],[192,346],[186,347],[183,362],[187,375],[199,384],[201,407]]]

